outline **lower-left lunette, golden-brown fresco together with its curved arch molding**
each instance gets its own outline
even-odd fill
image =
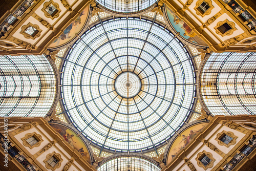
[[[49,124],[67,141],[68,144],[71,145],[72,148],[74,148],[82,156],[84,160],[92,164],[92,162],[94,161],[92,157],[92,148],[86,138],[84,138],[83,135],[79,134],[79,131],[62,121],[52,120],[51,122],[49,122]]]

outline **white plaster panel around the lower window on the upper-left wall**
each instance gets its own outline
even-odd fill
[[[38,25],[38,26],[39,26],[39,29],[42,30],[41,33],[40,33],[40,36],[39,36],[39,37],[36,37],[34,40],[33,40],[32,38],[26,38],[26,37],[24,37],[23,34],[20,34],[20,32],[22,31],[22,27],[23,27],[24,25],[27,25],[28,23],[31,23],[31,24],[33,24],[33,25]],[[28,43],[30,43],[30,44],[32,44],[32,45],[41,37],[42,34],[44,34],[44,33],[48,30],[48,28],[46,28],[44,25],[42,25],[40,22],[38,22],[38,20],[36,20],[36,19],[35,19],[34,17],[32,17],[32,16],[30,16],[30,17],[26,20],[26,22],[22,25],[22,27],[20,27],[20,28],[13,34],[13,37],[16,37],[16,38],[18,38],[18,39],[20,39],[20,40],[26,41],[26,42],[28,42]]]

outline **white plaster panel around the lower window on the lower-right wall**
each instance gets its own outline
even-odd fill
[[[221,161],[222,157],[221,157],[218,153],[216,153],[215,151],[212,151],[212,150],[211,150],[209,147],[207,147],[206,145],[204,145],[204,146],[200,149],[200,151],[199,151],[198,153],[202,153],[203,151],[206,151],[206,152],[208,152],[208,153],[211,153],[211,154],[212,154],[212,157],[215,159],[214,165],[213,165],[211,168],[207,168],[207,169],[206,169],[207,171],[210,171],[212,168],[214,168],[214,167]],[[197,158],[198,153],[197,153],[195,156],[193,156],[193,158],[190,159],[190,162],[191,162],[192,164],[194,164],[194,166],[195,166],[195,168],[196,168],[197,170],[204,170],[202,167],[200,167],[200,166],[197,164],[196,158]]]

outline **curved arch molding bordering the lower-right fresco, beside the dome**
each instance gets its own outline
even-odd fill
[[[180,130],[178,130],[174,135],[173,137],[168,141],[168,144],[165,148],[165,151],[164,151],[164,156],[163,156],[163,162],[165,163],[165,165],[167,164],[166,163],[166,160],[167,160],[167,157],[168,157],[168,154],[169,154],[169,150],[170,148],[172,147],[173,143],[175,142],[175,140],[179,137],[179,135],[184,132],[185,130],[187,130],[189,127],[191,126],[194,126],[194,125],[197,125],[197,124],[200,124],[200,123],[208,123],[209,121],[207,119],[202,119],[202,120],[195,120],[195,121],[192,121],[188,124],[186,124],[185,126],[181,127]]]

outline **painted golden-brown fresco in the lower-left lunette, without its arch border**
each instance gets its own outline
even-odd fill
[[[88,149],[86,145],[83,143],[82,139],[80,137],[77,137],[76,133],[71,131],[65,126],[61,126],[58,124],[52,124],[50,125],[53,127],[53,129],[58,132],[69,144],[71,147],[77,150],[78,153],[89,163],[91,163],[90,155],[88,152]]]

